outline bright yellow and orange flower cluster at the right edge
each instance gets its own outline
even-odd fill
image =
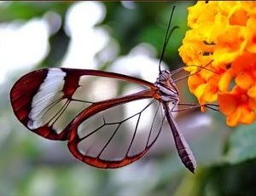
[[[200,104],[218,101],[227,124],[252,124],[256,114],[256,2],[198,2],[179,55]]]

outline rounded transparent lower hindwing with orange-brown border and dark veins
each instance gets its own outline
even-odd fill
[[[117,168],[140,159],[154,144],[165,119],[160,101],[117,101],[124,100],[102,101],[73,121],[68,147],[77,159]]]

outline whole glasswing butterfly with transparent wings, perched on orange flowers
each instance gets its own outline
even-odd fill
[[[172,14],[160,63],[177,28],[170,30]],[[182,69],[160,69],[152,84],[114,72],[44,68],[22,76],[10,91],[10,101],[16,118],[28,130],[50,140],[67,141],[75,158],[98,168],[119,168],[142,158],[159,137],[166,119],[181,161],[194,173],[195,157],[172,115],[179,105],[172,75]],[[104,82],[94,88],[96,80]],[[135,84],[140,90],[109,98],[116,84],[111,81]],[[109,84],[105,92],[98,89],[103,84]],[[133,112],[125,113],[125,108]]]

